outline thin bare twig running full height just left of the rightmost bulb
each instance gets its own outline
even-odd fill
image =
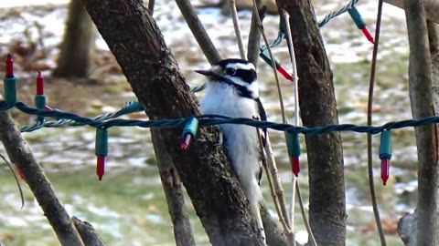
[[[373,105],[373,87],[375,85],[375,71],[377,67],[378,47],[380,44],[380,26],[382,14],[382,0],[378,3],[377,25],[375,27],[375,43],[373,44],[372,65],[370,68],[369,81],[369,99],[368,99],[368,126],[372,125],[372,105]],[[378,210],[377,198],[375,195],[375,187],[373,184],[373,166],[372,166],[372,136],[368,134],[368,173],[369,173],[369,190],[370,200],[372,201],[373,215],[380,234],[381,246],[386,245],[386,238],[380,222],[380,210]]]

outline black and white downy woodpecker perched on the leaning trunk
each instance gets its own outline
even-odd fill
[[[209,70],[197,70],[208,77],[206,94],[200,100],[203,114],[219,114],[231,118],[257,118],[266,120],[265,110],[259,99],[258,78],[252,63],[241,59],[225,59],[219,61]],[[236,173],[244,195],[249,200],[253,215],[256,218],[263,241],[265,233],[259,210],[262,200],[260,179],[262,163],[259,134],[245,125],[219,125],[224,137],[224,148]],[[262,144],[265,135],[262,135]]]

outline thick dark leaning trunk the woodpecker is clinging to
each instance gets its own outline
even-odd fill
[[[141,0],[83,0],[149,118],[199,114],[163,36]],[[161,128],[174,165],[212,245],[262,245],[236,177],[222,148],[218,128],[199,128],[188,151],[179,148],[182,128]]]

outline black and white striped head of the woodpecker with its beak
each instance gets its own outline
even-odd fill
[[[196,70],[212,83],[224,83],[234,87],[241,97],[259,97],[258,77],[251,62],[242,59],[224,59],[209,70]]]

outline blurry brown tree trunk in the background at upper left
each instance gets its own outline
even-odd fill
[[[70,0],[69,18],[59,52],[58,77],[88,77],[93,66],[96,28],[80,0]]]

